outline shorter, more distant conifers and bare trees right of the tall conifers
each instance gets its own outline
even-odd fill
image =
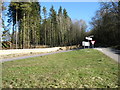
[[[86,23],[83,20],[71,21],[66,9],[60,6],[57,12],[52,6],[49,17],[46,19],[46,8],[43,7],[43,22],[41,29],[41,44],[50,46],[66,46],[79,44],[81,33],[85,33]]]

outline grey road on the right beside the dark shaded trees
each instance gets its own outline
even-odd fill
[[[114,50],[111,48],[95,48],[95,49],[98,51],[101,51],[108,57],[110,57],[120,63],[120,50]]]

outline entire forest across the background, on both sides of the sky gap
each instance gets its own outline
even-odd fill
[[[3,11],[6,9],[2,7]],[[120,2],[101,2],[86,31],[84,20],[73,21],[62,6],[58,12],[39,2],[10,2],[7,28],[2,18],[3,47],[36,48],[81,45],[85,36],[94,35],[96,46],[120,46]],[[12,33],[10,28],[12,27]],[[5,42],[10,42],[7,46]],[[5,45],[6,44],[6,45]]]

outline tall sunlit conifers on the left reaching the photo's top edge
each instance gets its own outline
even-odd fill
[[[38,2],[11,2],[9,25],[12,24],[11,42],[16,48],[27,48],[40,42],[40,5]]]

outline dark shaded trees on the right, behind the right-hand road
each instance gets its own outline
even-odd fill
[[[120,45],[120,2],[100,3],[91,25],[90,34],[94,34],[98,45]]]

